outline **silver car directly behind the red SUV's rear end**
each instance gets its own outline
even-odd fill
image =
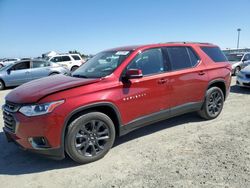
[[[250,64],[250,53],[225,54],[232,65],[232,74],[237,75],[241,69]]]

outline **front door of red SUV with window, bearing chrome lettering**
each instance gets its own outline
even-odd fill
[[[123,82],[122,102],[119,107],[124,112],[122,117],[125,124],[161,111],[168,100],[164,93],[165,67],[160,48],[141,52],[131,61],[126,70],[128,69],[142,70],[143,77]]]

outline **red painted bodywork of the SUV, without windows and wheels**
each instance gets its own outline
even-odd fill
[[[124,68],[141,51],[163,46],[190,46],[200,56],[195,68],[166,72],[150,77],[132,79],[132,84],[123,83],[120,76]],[[61,133],[66,118],[75,109],[96,102],[110,102],[121,115],[121,124],[141,116],[168,109],[188,102],[203,101],[210,81],[224,80],[227,91],[231,82],[231,67],[214,63],[200,46],[206,44],[154,44],[116,48],[134,52],[113,72],[103,79],[82,79],[53,76],[32,81],[10,92],[6,100],[19,103],[45,103],[64,99],[65,102],[52,113],[37,117],[14,114],[19,122],[16,136],[24,148],[31,148],[29,137],[44,136],[52,148],[61,146]],[[205,73],[205,74],[203,74]]]

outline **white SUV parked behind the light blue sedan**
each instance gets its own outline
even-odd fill
[[[69,69],[71,72],[74,72],[84,63],[79,54],[57,54],[47,57],[46,60],[60,64]]]

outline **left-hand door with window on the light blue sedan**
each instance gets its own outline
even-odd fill
[[[22,61],[13,65],[7,74],[9,85],[21,85],[31,80],[30,61]]]

